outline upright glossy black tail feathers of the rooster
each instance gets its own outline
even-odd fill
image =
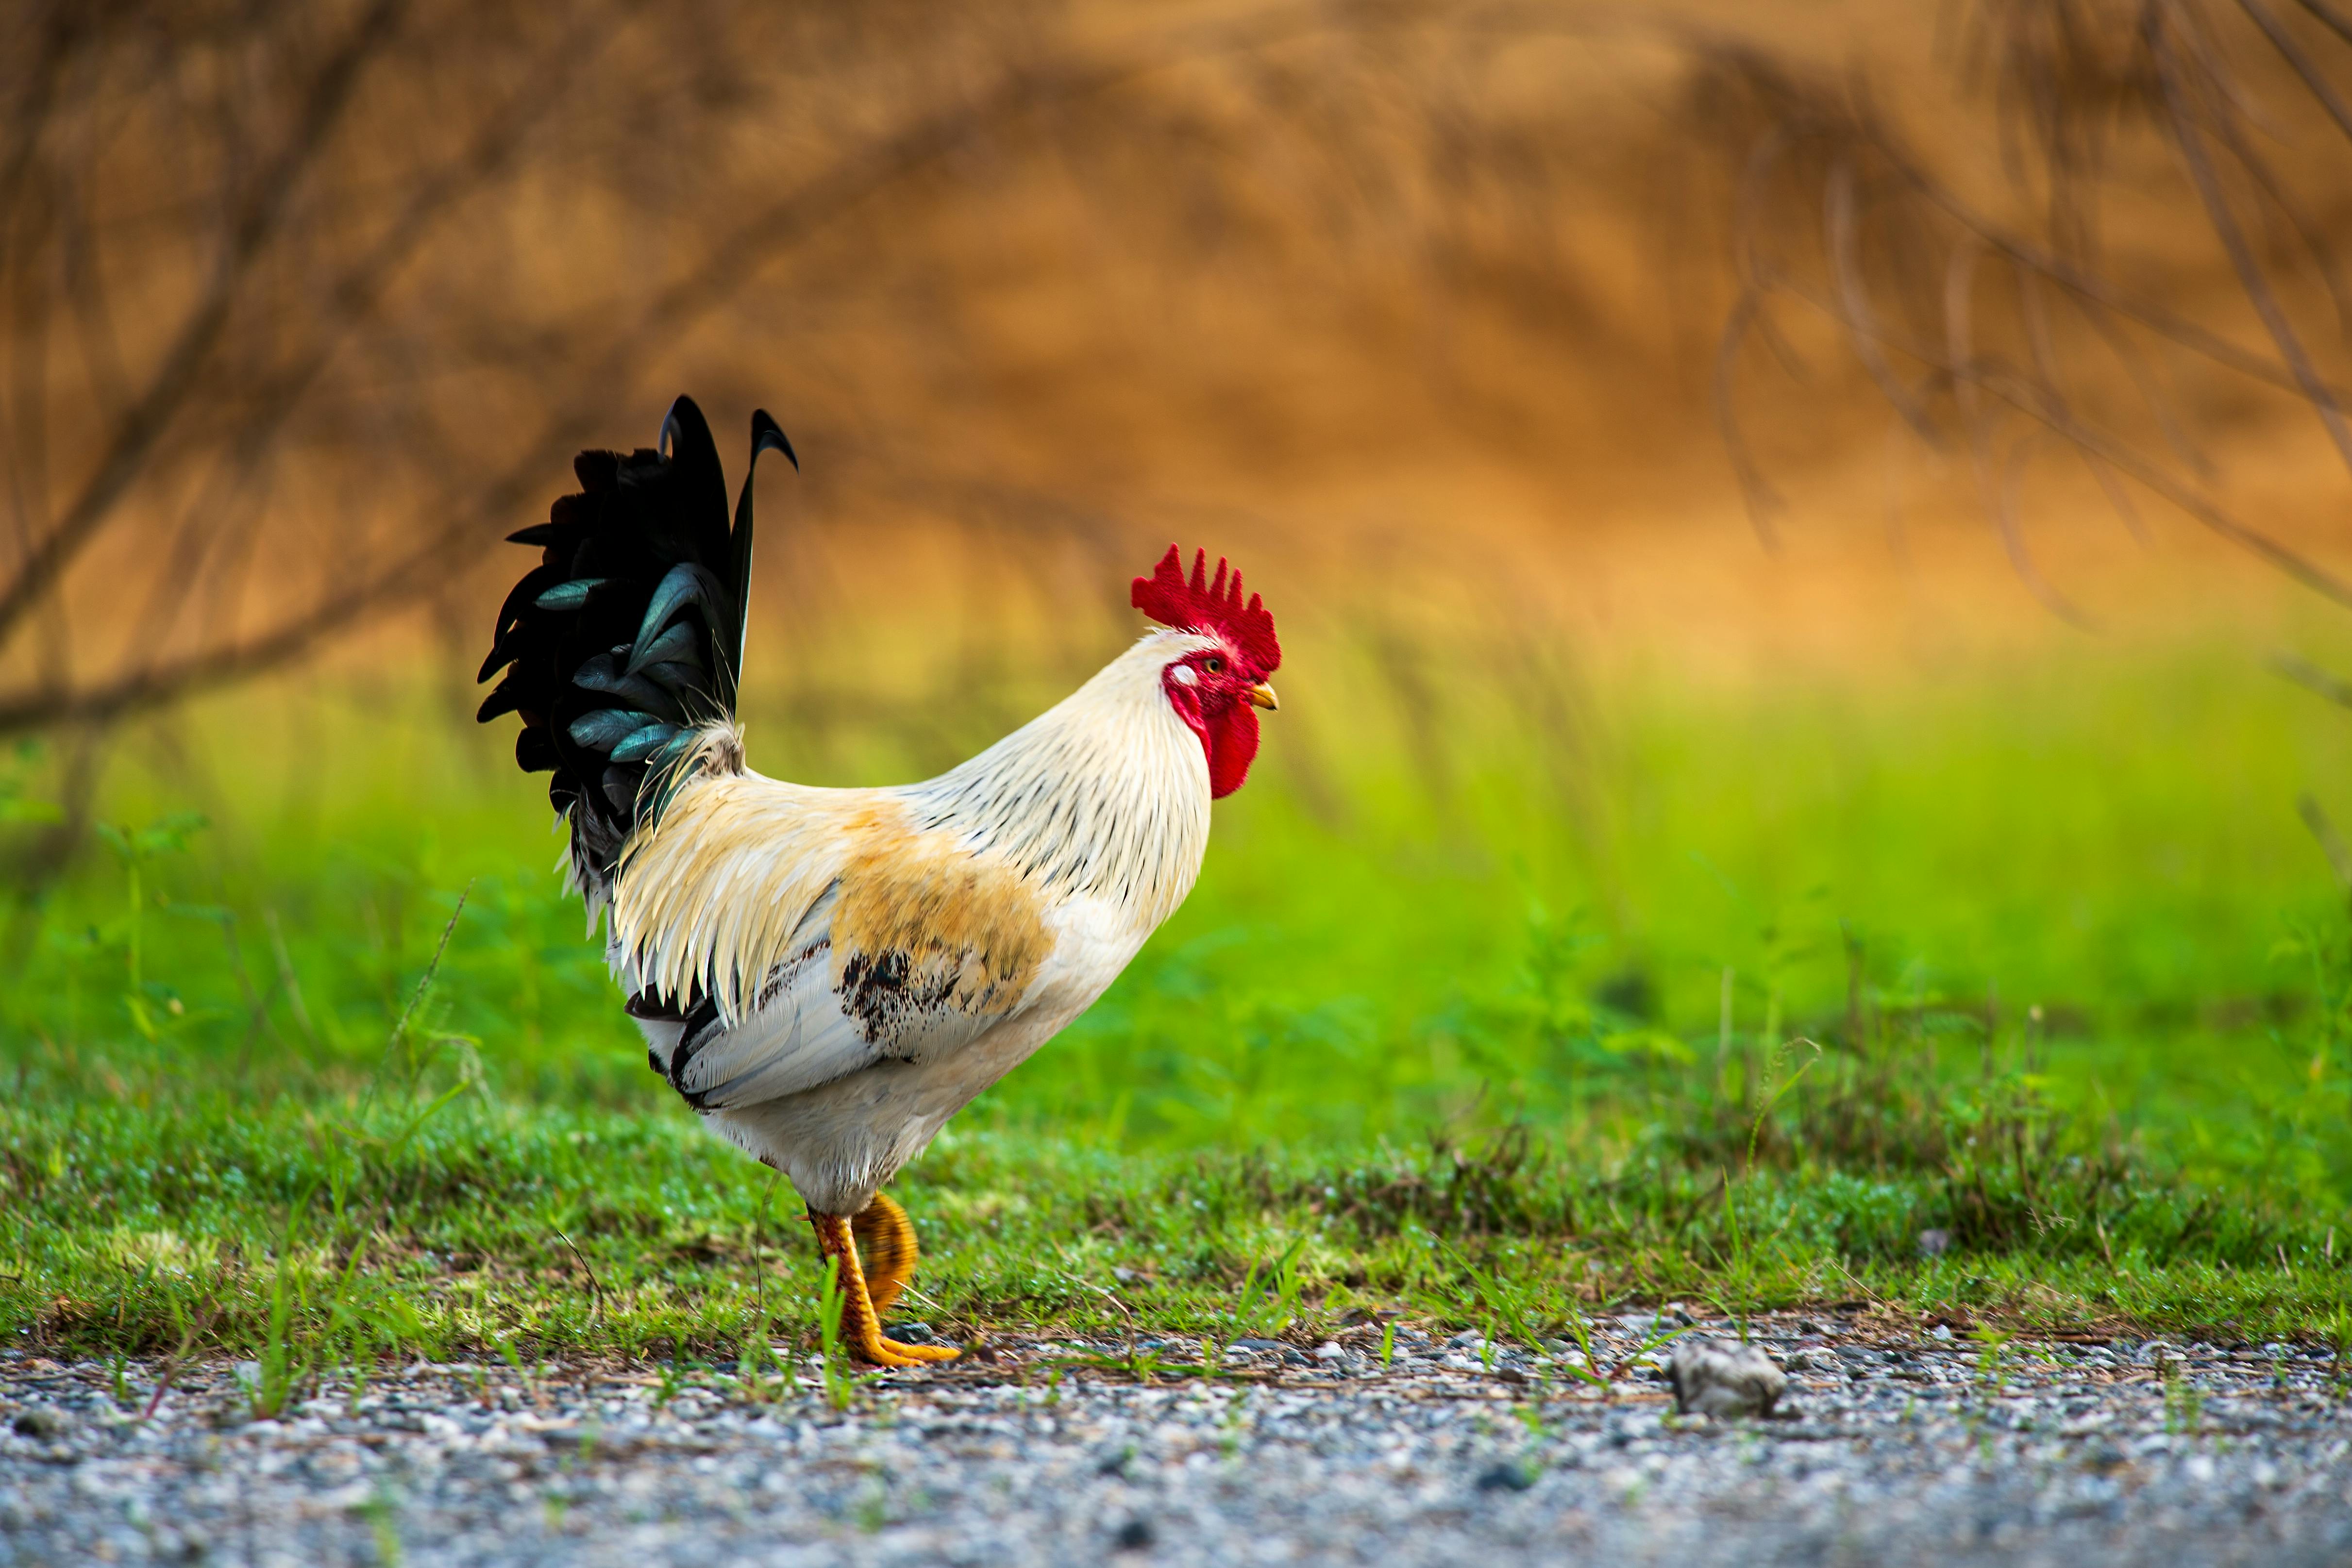
[[[762,409],[750,416],[750,465],[769,449],[800,468]],[[543,555],[499,607],[477,679],[506,679],[477,717],[522,717],[515,762],[555,771],[548,799],[572,818],[576,858],[609,875],[640,813],[659,813],[647,780],[680,762],[701,726],[734,717],[753,475],[729,529],[727,475],[691,397],[670,404],[659,451],[583,451],[572,473],[579,494],[510,536]]]

